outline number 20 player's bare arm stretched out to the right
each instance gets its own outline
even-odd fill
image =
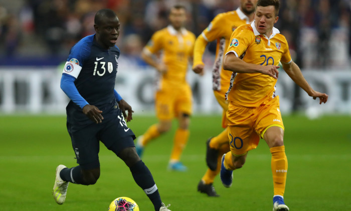
[[[305,90],[309,96],[313,97],[313,99],[319,98],[319,104],[322,102],[325,103],[328,100],[328,95],[326,93],[321,93],[312,89],[305,77],[303,77],[300,68],[293,61],[288,64],[282,62],[282,66],[289,77]]]

